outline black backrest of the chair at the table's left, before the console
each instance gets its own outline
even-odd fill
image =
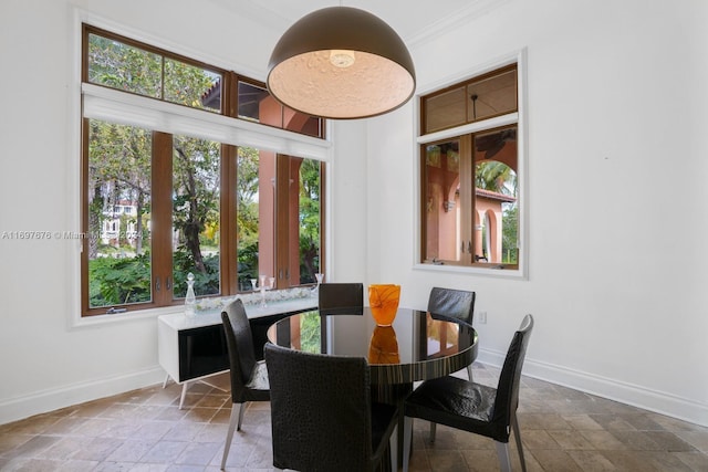
[[[233,402],[241,402],[246,385],[256,367],[253,336],[243,302],[237,298],[229,303],[221,312],[221,321],[231,367],[231,398]]]

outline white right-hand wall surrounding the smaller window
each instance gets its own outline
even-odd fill
[[[532,313],[529,375],[708,424],[707,21],[698,0],[510,1],[416,44],[419,91],[527,49],[529,279],[412,268],[413,106],[369,126],[376,279],[417,306],[477,291],[481,360]]]

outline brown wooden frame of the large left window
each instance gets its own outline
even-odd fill
[[[87,50],[88,50],[88,34],[97,34],[104,38],[113,39],[125,43],[131,46],[139,48],[140,50],[145,50],[148,52],[154,52],[160,54],[163,57],[174,59],[180,62],[184,62],[189,65],[194,65],[197,67],[202,67],[210,72],[217,72],[221,74],[222,77],[222,90],[221,90],[221,112],[220,114],[231,117],[238,118],[238,82],[248,82],[253,85],[263,86],[264,84],[254,81],[252,78],[248,78],[241,76],[232,71],[223,71],[219,67],[211,66],[209,64],[195,61],[189,57],[181,56],[179,54],[175,54],[159,48],[154,48],[148,44],[131,40],[128,38],[108,32],[106,30],[102,30],[100,28],[95,28],[88,24],[82,25],[82,61],[81,61],[81,78],[83,83],[87,83],[88,78],[88,60],[87,60]],[[163,81],[164,82],[164,81]],[[93,84],[97,86],[103,86],[101,84]],[[112,87],[107,87],[112,88]],[[115,88],[114,88],[115,90]],[[133,92],[119,91],[121,93],[131,94],[131,95],[139,95]],[[145,95],[139,95],[142,97],[146,97]],[[154,97],[146,97],[150,99],[158,99]],[[169,102],[175,104],[174,102]],[[180,104],[175,104],[179,106],[186,106]],[[211,111],[204,111],[196,108],[200,113],[214,114]],[[320,136],[315,138],[324,139],[324,123],[323,118],[320,119]],[[81,145],[81,191],[82,196],[81,201],[81,229],[84,234],[88,234],[88,199],[87,199],[87,183],[88,183],[88,126],[90,118],[82,117],[82,145]],[[266,124],[257,124],[258,126],[268,126],[274,127]],[[183,303],[181,300],[176,300],[173,296],[173,252],[171,252],[171,179],[166,179],[164,176],[171,176],[171,156],[173,156],[173,135],[169,133],[158,132],[153,129],[153,156],[152,156],[152,245],[153,248],[163,248],[162,250],[153,250],[152,254],[152,300],[149,302],[144,303],[134,303],[127,305],[115,305],[112,306],[114,308],[125,308],[131,313],[156,308],[156,307],[165,307],[171,305],[178,305]],[[296,132],[291,132],[296,133]],[[306,135],[311,136],[311,135]],[[222,191],[220,191],[220,293],[218,295],[208,295],[208,296],[229,296],[239,293],[238,287],[238,253],[237,253],[237,196],[235,191],[229,191],[229,189],[236,188],[236,182],[238,179],[238,164],[237,164],[237,155],[238,147],[232,144],[221,144],[221,158],[220,158],[220,187]],[[321,228],[324,228],[324,169],[325,164],[321,161],[321,209],[320,209],[320,224]],[[279,179],[280,180],[280,179]],[[285,179],[287,181],[287,179]],[[282,185],[278,185],[278,188],[283,188]],[[280,202],[279,204],[287,204],[282,200],[282,196],[280,192],[277,195],[277,199]],[[274,210],[275,214],[278,214],[277,209]],[[274,255],[278,256],[280,253],[279,247],[283,243],[287,244],[287,225],[275,225],[275,245],[272,249],[274,251]],[[323,268],[324,264],[324,231],[320,232],[320,268]],[[104,315],[107,314],[110,306],[102,307],[90,307],[90,296],[88,296],[88,239],[84,239],[82,241],[82,252],[80,256],[80,266],[81,266],[81,316],[95,316],[95,315]],[[281,262],[279,261],[279,266]],[[159,285],[159,290],[157,289]],[[290,285],[285,282],[278,282],[277,287],[285,289]],[[296,285],[293,285],[296,286]]]

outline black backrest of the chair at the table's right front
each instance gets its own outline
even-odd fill
[[[497,397],[494,399],[494,411],[492,413],[492,422],[497,422],[506,429],[506,436],[509,437],[509,426],[511,423],[511,413],[519,406],[519,384],[521,382],[521,368],[523,359],[527,355],[527,346],[531,338],[533,329],[533,316],[525,315],[521,322],[521,326],[514,333],[507,358],[499,375],[499,385],[497,386]],[[500,433],[502,431],[499,431]]]

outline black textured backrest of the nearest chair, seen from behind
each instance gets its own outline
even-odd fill
[[[371,468],[368,364],[267,343],[273,465],[299,471]]]

